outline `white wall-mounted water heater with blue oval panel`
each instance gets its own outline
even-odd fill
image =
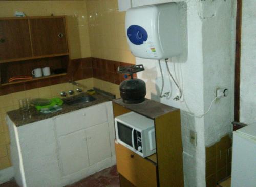
[[[181,53],[177,3],[128,9],[125,29],[130,49],[136,57],[164,59]]]

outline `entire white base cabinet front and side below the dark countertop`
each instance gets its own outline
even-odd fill
[[[20,127],[7,122],[19,186],[65,186],[116,163],[112,102]]]

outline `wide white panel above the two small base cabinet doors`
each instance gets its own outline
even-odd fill
[[[57,135],[69,134],[108,121],[106,104],[98,104],[57,116]]]

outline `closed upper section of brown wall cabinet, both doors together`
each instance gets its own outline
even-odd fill
[[[68,55],[65,16],[0,18],[0,63]]]

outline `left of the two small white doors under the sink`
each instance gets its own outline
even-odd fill
[[[58,142],[62,176],[89,166],[85,130],[61,136],[58,138]]]

